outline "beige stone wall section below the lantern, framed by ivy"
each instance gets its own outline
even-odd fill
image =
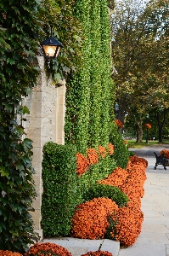
[[[37,86],[31,95],[23,99],[23,103],[30,109],[25,122],[26,137],[33,141],[32,166],[36,174],[34,180],[37,189],[37,199],[31,212],[34,228],[42,237],[41,205],[42,205],[42,148],[45,143],[64,144],[65,125],[65,82],[57,86],[52,79],[48,79],[44,70],[44,58],[37,57],[41,73],[37,79]]]

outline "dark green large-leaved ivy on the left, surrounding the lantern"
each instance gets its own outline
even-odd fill
[[[40,72],[39,42],[54,24],[64,50],[50,70],[55,80],[75,73],[81,62],[81,24],[72,15],[74,1],[0,1],[0,249],[24,253],[37,239],[29,209],[36,196],[31,166],[32,142],[20,118],[22,106]]]

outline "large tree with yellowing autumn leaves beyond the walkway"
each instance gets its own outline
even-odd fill
[[[143,119],[149,109],[164,102],[168,106],[166,35],[159,38],[160,25],[155,32],[149,6],[123,1],[112,20],[112,57],[116,70],[113,78],[120,103],[119,119],[124,121],[125,113],[128,118],[137,113],[134,116],[138,142],[142,140]]]

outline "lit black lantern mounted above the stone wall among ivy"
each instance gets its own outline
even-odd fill
[[[63,45],[53,38],[53,28],[51,27],[51,36],[40,43],[42,46],[42,53],[46,60],[48,60],[48,68],[50,67],[50,61],[58,57],[60,49]]]

